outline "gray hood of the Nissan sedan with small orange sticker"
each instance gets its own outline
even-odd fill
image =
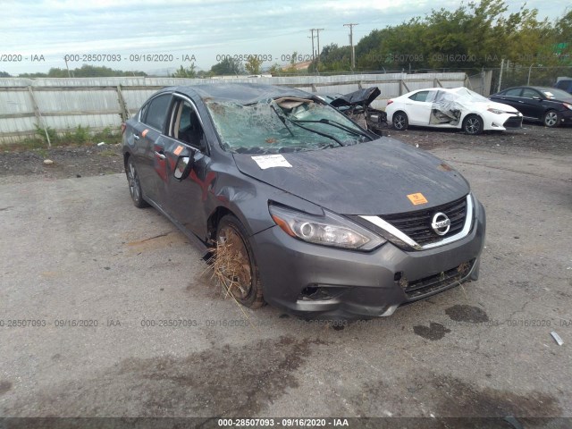
[[[282,154],[291,167],[263,170],[251,154],[233,156],[240,172],[339,214],[407,213],[469,192],[463,176],[442,160],[389,138]],[[408,195],[419,193],[427,202],[414,205]]]

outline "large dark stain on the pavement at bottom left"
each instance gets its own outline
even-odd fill
[[[187,357],[130,357],[97,377],[55,385],[7,416],[256,416],[290,388],[319,340],[281,337]],[[102,398],[113,399],[101,408]]]

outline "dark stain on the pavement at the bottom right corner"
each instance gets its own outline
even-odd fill
[[[393,391],[393,395],[403,398],[403,402],[395,404],[385,399],[387,391]],[[379,400],[372,401],[371,398]],[[439,424],[426,426],[425,424],[429,422],[425,419],[420,420],[418,426],[407,427],[547,427],[543,424],[562,416],[559,400],[543,391],[495,389],[492,386],[468,383],[447,374],[413,373],[399,383],[372,380],[362,386],[351,402],[357,408],[357,414],[361,416],[404,416],[416,412],[420,413],[418,417],[431,416],[433,417],[431,422]],[[391,414],[387,413],[389,410]],[[458,417],[463,418],[458,422],[450,420]],[[467,417],[498,419],[498,421],[471,422]],[[541,425],[538,426],[525,424],[528,419],[534,418],[544,420],[539,422]],[[398,420],[408,421],[407,418]],[[415,419],[412,419],[413,421]],[[509,421],[522,426],[507,425]],[[500,425],[493,425],[495,423]]]

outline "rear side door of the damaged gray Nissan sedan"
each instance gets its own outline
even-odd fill
[[[139,180],[147,199],[164,206],[166,190],[166,157],[164,155],[164,130],[171,107],[172,94],[160,94],[151,98],[142,111],[135,130],[138,140],[136,162]]]

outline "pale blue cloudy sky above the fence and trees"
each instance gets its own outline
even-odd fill
[[[524,3],[505,0],[509,13]],[[423,17],[432,9],[452,11],[460,4],[452,0],[0,0],[0,71],[17,75],[64,69],[66,56],[70,69],[89,63],[163,74],[193,62],[197,70],[209,70],[223,55],[262,55],[263,66],[284,64],[293,51],[303,59],[312,55],[310,29],[322,29],[321,48],[331,43],[344,46],[349,45],[349,27],[344,24],[356,23],[357,44],[373,29]],[[528,0],[526,7],[554,21],[572,4]]]

